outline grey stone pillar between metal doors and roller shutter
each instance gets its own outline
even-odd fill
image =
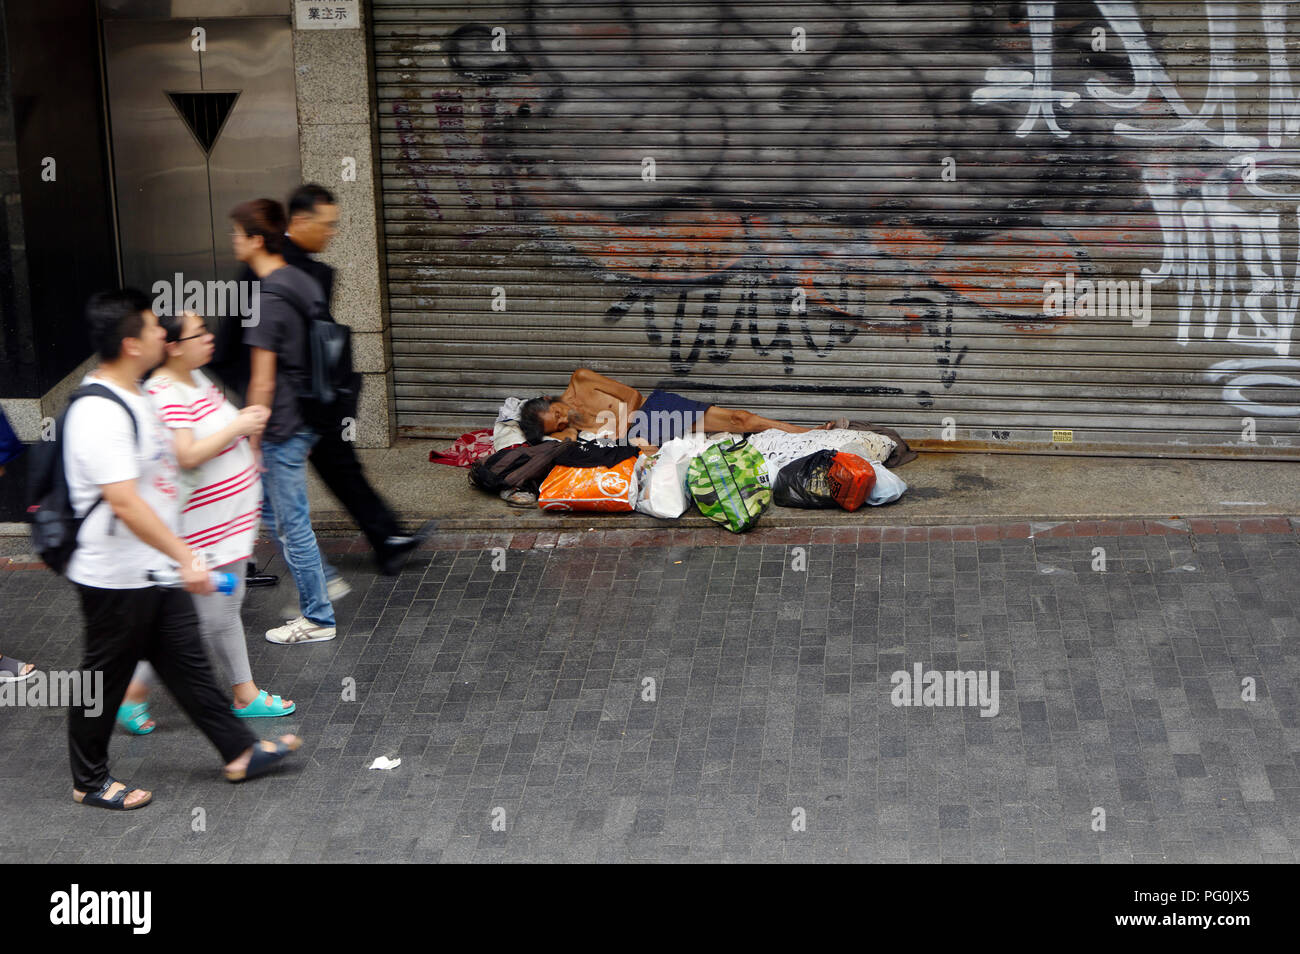
[[[396,434],[393,351],[384,282],[370,45],[361,29],[313,30],[294,23],[298,133],[303,181],[334,192],[339,230],[322,261],[338,269],[334,317],[351,326],[354,359],[365,376],[359,447],[387,447]],[[355,166],[355,178],[348,178]]]

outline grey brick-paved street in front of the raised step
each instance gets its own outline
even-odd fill
[[[159,694],[113,741],[155,803],[83,808],[65,712],[6,708],[0,854],[1294,862],[1294,522],[472,534],[396,580],[333,541],[341,638],[265,642],[283,584],[246,604],[256,678],[299,704],[256,723],[306,738],[285,772],[226,784]],[[0,650],[78,663],[52,573],[0,572]],[[894,706],[915,664],[996,672],[997,714]]]

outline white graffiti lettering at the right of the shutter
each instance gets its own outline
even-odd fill
[[[1209,168],[1147,160],[1143,183],[1160,224],[1162,257],[1141,270],[1148,287],[1167,283],[1176,299],[1179,344],[1196,339],[1266,350],[1275,357],[1231,359],[1209,369],[1210,380],[1225,378],[1223,400],[1253,415],[1296,416],[1300,407],[1268,403],[1251,396],[1252,389],[1300,386],[1297,363],[1290,359],[1296,311],[1300,308],[1300,261],[1284,263],[1283,250],[1300,238],[1300,178],[1297,155],[1282,147],[1300,135],[1300,96],[1287,62],[1287,16],[1294,0],[1258,5],[1260,31],[1268,49],[1266,129],[1239,127],[1239,91],[1247,101],[1258,97],[1261,74],[1238,60],[1239,26],[1248,30],[1240,4],[1210,0],[1205,4],[1205,92],[1193,112],[1161,62],[1130,0],[1097,0],[1110,31],[1119,38],[1132,88],[1122,91],[1108,81],[1089,77],[1083,88],[1100,107],[1141,110],[1141,118],[1113,116],[1121,139],[1141,143],[1210,147],[1227,151],[1209,160]],[[1053,23],[1056,3],[1026,4],[1032,73],[989,69],[985,86],[972,94],[980,105],[997,101],[1027,103],[1017,136],[1045,127],[1058,138],[1071,134],[1057,122],[1054,107],[1074,107],[1069,92],[1054,90]],[[1076,110],[1078,112],[1078,110]],[[1170,122],[1170,117],[1173,121]],[[1040,126],[1040,122],[1043,123]],[[1249,199],[1284,200],[1277,205],[1243,204]],[[1050,299],[1049,300],[1054,300]],[[1136,328],[1141,324],[1135,322]]]

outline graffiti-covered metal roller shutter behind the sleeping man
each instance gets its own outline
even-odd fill
[[[1300,455],[1294,6],[374,0],[399,428]]]

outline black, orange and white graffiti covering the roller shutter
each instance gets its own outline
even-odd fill
[[[494,23],[448,26],[463,84],[432,94],[448,164],[404,170],[490,182],[532,247],[604,283],[604,321],[641,329],[675,376],[737,356],[793,374],[897,334],[930,342],[945,391],[976,331],[1087,318],[1213,342],[1201,373],[1226,404],[1300,415],[1252,398],[1300,386],[1291,4],[1183,5],[1208,49],[1186,88],[1162,51],[1191,13],[1165,36],[1158,6],[719,4],[682,31],[658,6],[588,23],[534,0],[506,52]],[[402,130],[410,103],[390,108]]]

